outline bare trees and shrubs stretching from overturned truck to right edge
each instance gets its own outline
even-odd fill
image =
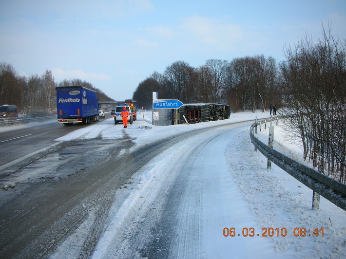
[[[301,139],[304,159],[345,184],[346,41],[323,28],[316,44],[305,36],[284,52],[279,63],[263,55],[209,59],[198,68],[176,61],[139,83],[133,99],[145,109],[152,107],[152,92],[183,103],[229,104],[233,111],[276,105]]]

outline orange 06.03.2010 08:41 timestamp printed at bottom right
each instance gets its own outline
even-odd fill
[[[286,237],[290,233],[287,232],[286,227],[282,228],[272,228],[272,227],[262,227],[262,232],[258,233],[255,231],[253,227],[247,228],[243,227],[241,232],[237,232],[234,227],[227,228],[225,227],[223,230],[223,234],[225,237]],[[294,237],[324,237],[324,228],[305,228],[305,227],[295,227],[293,229]]]

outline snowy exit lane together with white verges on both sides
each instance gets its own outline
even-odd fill
[[[153,126],[144,115],[127,129],[110,118],[57,139],[109,142],[125,134],[134,159],[170,139],[115,192],[93,258],[346,258],[346,212],[322,197],[312,210],[311,190],[274,164],[267,170],[250,143],[256,113],[175,126]],[[274,132],[274,148],[289,147],[299,159],[285,130]],[[266,141],[268,129],[258,137]],[[91,210],[51,258],[79,257],[93,222]]]

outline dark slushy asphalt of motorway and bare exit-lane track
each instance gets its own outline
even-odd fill
[[[246,124],[249,122],[233,126],[230,124],[226,128],[244,127]],[[55,251],[58,244],[71,236],[86,218],[93,215],[92,225],[81,244],[78,255],[78,258],[90,258],[104,232],[105,222],[108,220],[108,213],[114,199],[119,204],[126,199],[125,196],[115,197],[117,190],[126,188],[131,183],[131,177],[157,155],[172,152],[167,150],[179,143],[183,145],[187,138],[203,135],[203,138],[197,138],[198,141],[196,139],[194,142],[198,150],[206,152],[211,141],[223,134],[226,129],[225,126],[223,127],[224,129],[219,131],[215,130],[216,128],[208,128],[184,132],[154,141],[135,151],[130,151],[134,143],[125,130],[117,141],[95,138],[63,142],[57,145],[53,145],[53,138],[57,138],[57,131],[63,135],[73,128],[60,127],[54,131],[49,127],[47,129],[38,127],[30,131],[18,131],[15,135],[5,135],[2,140],[7,141],[0,143],[1,155],[6,155],[4,149],[8,149],[14,157],[7,156],[6,163],[2,164],[7,167],[1,172],[1,181],[10,183],[12,175],[16,175],[17,179],[22,177],[21,181],[27,179],[28,183],[9,188],[6,192],[2,191],[0,258],[47,258]],[[185,162],[190,165],[196,159],[192,154],[198,154],[193,151],[193,148],[195,147],[190,148],[191,153],[186,156],[181,154],[181,157],[186,159]],[[20,160],[20,156],[37,150],[40,151],[34,156]],[[18,163],[9,165],[12,162],[11,159]],[[199,161],[202,160],[205,159],[199,159]],[[171,167],[173,168],[174,165]],[[180,172],[177,171],[178,169],[173,169],[170,170],[175,175]],[[171,171],[167,173],[169,172]],[[143,215],[148,218],[145,224],[135,222],[139,226],[142,225],[145,231],[140,235],[141,231],[137,229],[127,241],[138,246],[138,243],[143,243],[145,240],[147,246],[140,251],[141,256],[167,258],[172,255],[170,244],[172,244],[173,236],[163,233],[169,232],[176,225],[174,212],[176,213],[181,206],[179,201],[183,190],[189,187],[192,175],[196,177],[195,168],[188,168],[186,172],[188,173],[179,180],[171,179],[167,189],[158,190],[156,195],[161,198],[157,199],[154,210],[149,212],[148,204],[144,204],[145,211],[138,212],[138,215],[144,213]],[[35,179],[31,176],[35,176]],[[194,191],[195,189],[190,188],[188,196],[191,196]],[[163,210],[164,207],[167,209]],[[131,219],[129,221],[130,224],[134,223]],[[187,222],[191,225],[195,223],[193,220]],[[180,226],[180,228],[184,227]],[[149,240],[147,236],[143,236],[148,231],[152,232],[150,235],[152,239],[149,238]],[[155,241],[156,236],[161,237],[159,243]],[[119,247],[121,249],[121,245]],[[136,253],[138,251],[123,252],[128,256],[137,255]]]

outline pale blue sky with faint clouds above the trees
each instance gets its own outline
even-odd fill
[[[346,39],[345,0],[0,0],[0,62],[20,75],[79,78],[124,100],[178,60],[282,61],[285,45],[306,34],[316,42],[328,22]]]

